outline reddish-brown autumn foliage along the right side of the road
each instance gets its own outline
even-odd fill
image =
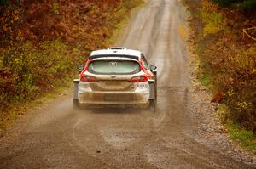
[[[256,41],[242,32],[256,26],[256,13],[221,8],[210,0],[198,5],[190,8],[195,12],[191,24],[201,61],[199,79],[212,89],[212,101],[228,106],[230,113],[224,119],[255,133]],[[256,30],[249,33],[256,37]]]

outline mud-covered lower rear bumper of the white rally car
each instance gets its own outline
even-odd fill
[[[80,104],[148,104],[149,91],[91,91],[79,93],[78,97]]]

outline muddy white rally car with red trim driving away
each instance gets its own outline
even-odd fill
[[[108,48],[91,52],[85,66],[74,79],[73,104],[154,105],[156,103],[156,66],[148,65],[142,52]]]

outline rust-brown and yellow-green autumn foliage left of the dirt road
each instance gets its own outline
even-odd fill
[[[12,104],[71,81],[75,65],[108,46],[113,30],[139,2],[1,1],[0,117]]]

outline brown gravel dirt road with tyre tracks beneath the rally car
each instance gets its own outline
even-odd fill
[[[199,135],[206,131],[193,113],[185,18],[178,0],[148,0],[119,41],[158,66],[156,113],[73,110],[72,96],[62,97],[0,138],[0,168],[253,168]]]

